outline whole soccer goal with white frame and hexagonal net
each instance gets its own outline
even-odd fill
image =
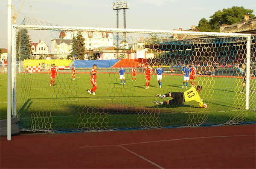
[[[31,18],[12,27],[12,56],[20,65],[13,71],[12,103],[20,130],[85,132],[256,121],[256,36],[69,27]],[[195,69],[192,79],[186,68]],[[188,90],[198,85],[200,99],[189,100]],[[169,101],[174,99],[169,95],[156,96],[169,92],[183,93],[180,104]]]

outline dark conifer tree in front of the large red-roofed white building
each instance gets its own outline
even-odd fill
[[[76,55],[79,59],[84,59],[84,51],[85,51],[84,40],[85,39],[83,38],[81,32],[78,32],[76,37],[73,37],[72,48],[71,48],[72,52],[70,53],[71,56]]]

